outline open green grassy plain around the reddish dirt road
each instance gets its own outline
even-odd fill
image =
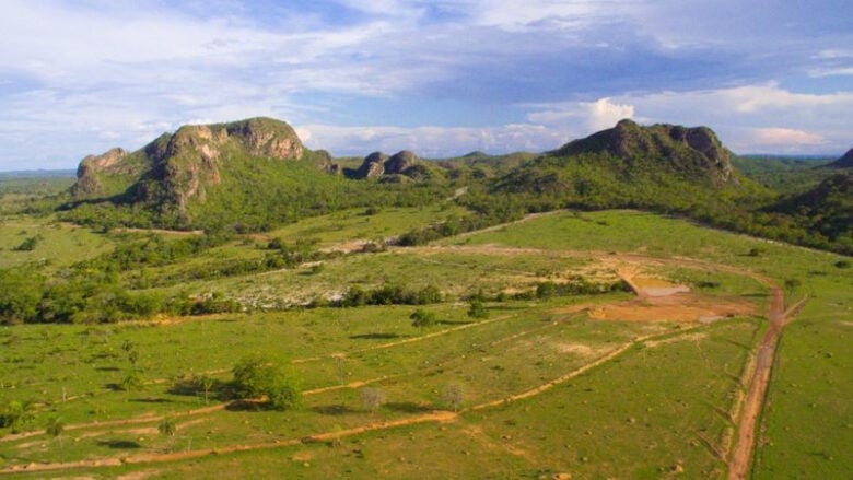
[[[309,236],[331,246],[392,236],[442,213],[419,214],[353,211],[270,237]],[[93,238],[107,248],[105,237]],[[69,255],[89,255],[80,251]],[[189,261],[252,256],[258,248],[236,242],[215,251]],[[5,248],[0,259],[17,254]],[[708,268],[656,260],[679,257]],[[412,306],[2,327],[0,400],[36,405],[23,434],[0,431],[0,471],[16,478],[722,478],[766,319],[588,315],[600,305],[638,302],[626,293],[491,302],[484,319],[468,317],[468,305],[457,301],[478,289],[529,289],[629,269],[687,283],[710,298],[739,297],[761,312],[767,285],[714,268],[722,265],[781,285],[796,280],[787,282],[790,303],[809,297],[783,332],[753,476],[844,478],[853,444],[846,348],[853,276],[836,267],[840,259],[647,213],[561,212],[428,248],[341,256],[318,271],[300,267],[174,286],[276,300],[353,284],[436,284],[451,300],[426,306],[439,323],[424,331],[411,326]],[[136,364],[121,348],[126,341],[139,352]],[[225,382],[250,352],[301,379],[304,407],[279,412],[215,396],[206,402],[174,388],[192,374]],[[142,384],[116,388],[132,372]],[[448,386],[459,393],[458,403],[451,405]],[[361,400],[365,387],[385,396],[376,411]],[[66,423],[58,438],[44,433],[54,415]],[[157,433],[165,415],[176,419],[175,437]]]

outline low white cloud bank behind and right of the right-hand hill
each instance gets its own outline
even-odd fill
[[[579,136],[626,117],[643,124],[704,125],[740,153],[833,153],[846,151],[853,141],[849,121],[853,92],[803,94],[776,83],[527,107],[529,121]]]

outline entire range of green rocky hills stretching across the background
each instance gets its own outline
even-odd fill
[[[849,152],[831,165],[844,167],[851,157]],[[523,212],[635,208],[853,251],[851,226],[844,224],[849,206],[839,201],[846,180],[821,183],[828,173],[808,168],[815,173],[803,188],[792,187],[781,197],[745,176],[735,161],[747,165],[708,127],[631,120],[541,154],[471,152],[431,161],[404,150],[334,160],[306,149],[288,124],[250,118],[188,125],[135,152],[116,148],[86,156],[61,209],[68,220],[104,229],[265,231],[346,208],[423,206],[448,198],[477,216],[459,224],[465,229]],[[807,169],[785,167],[791,175],[785,171],[780,177],[774,165],[768,160],[757,168],[768,179],[782,178],[779,185],[795,184]],[[829,220],[816,223],[803,215]],[[793,218],[819,234],[810,236]],[[457,227],[442,234],[453,231]]]

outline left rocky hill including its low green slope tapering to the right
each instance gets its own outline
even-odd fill
[[[68,220],[103,227],[260,231],[352,206],[409,204],[420,195],[374,192],[340,169],[280,120],[188,125],[136,152],[83,159],[63,209]]]

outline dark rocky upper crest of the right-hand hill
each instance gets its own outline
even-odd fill
[[[641,127],[626,119],[611,129],[566,143],[554,153],[605,152],[624,160],[631,167],[658,163],[693,179],[708,178],[715,185],[737,182],[729,152],[708,127],[667,124]]]

